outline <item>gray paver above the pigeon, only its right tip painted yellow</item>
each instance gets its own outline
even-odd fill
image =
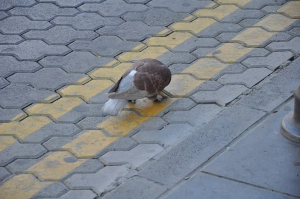
[[[118,26],[102,27],[96,32],[100,35],[116,35],[124,40],[140,41],[150,36],[165,36],[171,30],[161,26],[148,26],[141,21],[127,21]]]

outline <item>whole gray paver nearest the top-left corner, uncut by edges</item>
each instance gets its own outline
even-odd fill
[[[53,3],[38,3],[32,7],[15,7],[8,12],[11,15],[25,15],[32,20],[50,20],[55,16],[74,16],[80,13],[75,8],[60,8]]]

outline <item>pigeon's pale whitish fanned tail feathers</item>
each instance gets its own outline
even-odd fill
[[[117,115],[129,103],[126,99],[109,99],[102,107],[102,114]]]

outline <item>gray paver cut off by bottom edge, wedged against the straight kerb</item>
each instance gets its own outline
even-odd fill
[[[166,187],[141,177],[131,177],[120,186],[104,195],[105,199],[156,198]]]

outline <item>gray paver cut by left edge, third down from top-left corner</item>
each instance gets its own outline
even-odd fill
[[[48,29],[48,21],[33,21],[26,16],[10,16],[0,21],[0,30],[5,34],[22,34],[31,29]]]

